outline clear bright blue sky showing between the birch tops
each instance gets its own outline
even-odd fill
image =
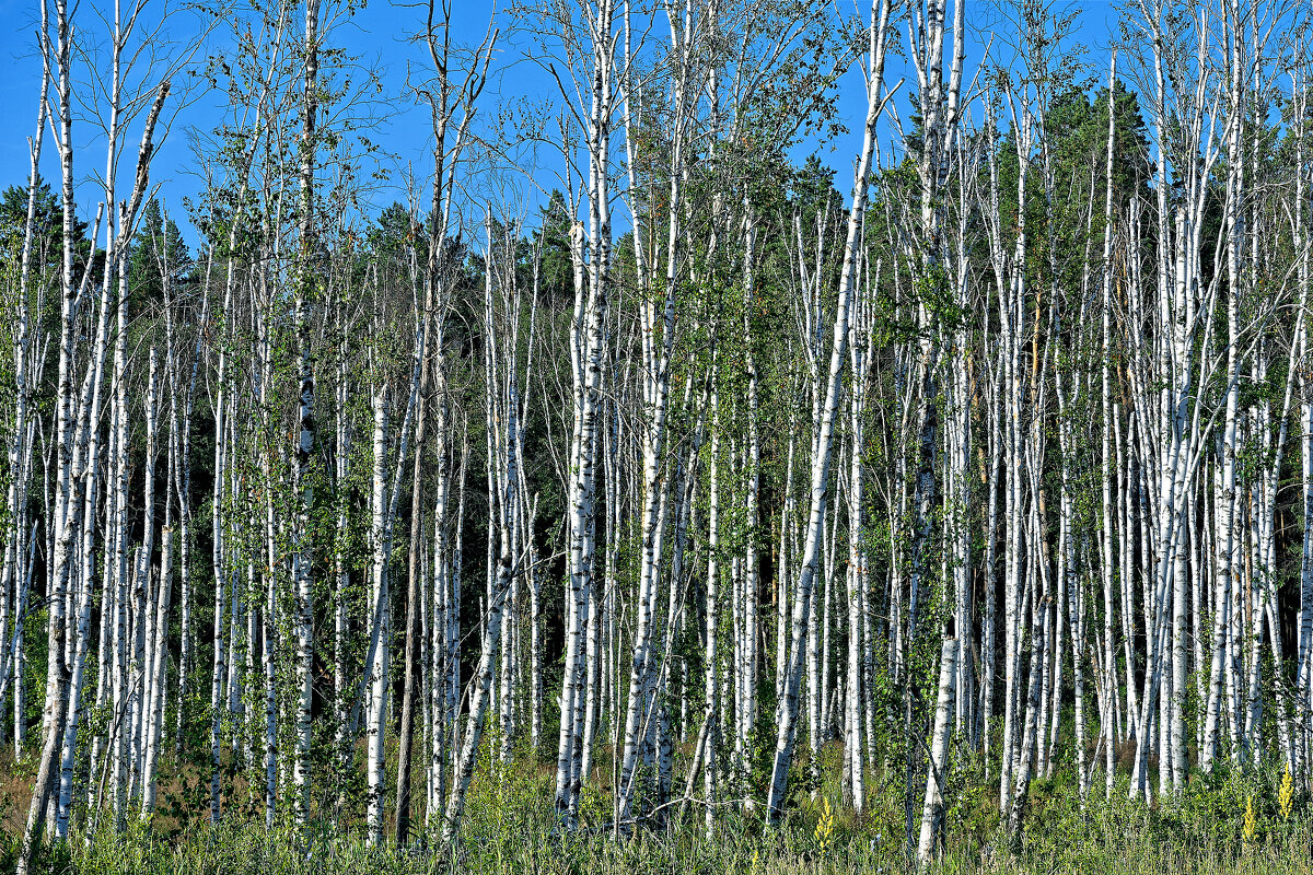
[[[847,5],[851,4],[851,0],[840,0],[840,4],[846,4],[843,8],[852,9],[851,5]],[[176,0],[169,5],[177,5]],[[559,100],[550,76],[541,66],[528,60],[534,49],[534,38],[524,30],[516,30],[503,9],[506,3],[496,5],[496,20],[503,29],[503,35],[481,101],[481,123],[484,126],[483,132],[488,135],[496,134],[496,127],[504,123],[504,117],[500,117],[499,113],[508,105],[525,100],[529,102],[550,101],[554,97]],[[147,3],[142,29],[158,24],[159,10],[163,7],[164,3],[160,0]],[[1116,30],[1116,12],[1107,1],[1073,3],[1066,8],[1077,16],[1073,39],[1088,49],[1085,55],[1090,64],[1088,75],[1092,80],[1099,81],[1106,76],[1102,73],[1106,63],[1104,47]],[[75,21],[84,38],[96,37],[102,42],[104,34],[109,31],[105,17],[112,12],[110,0],[80,0]],[[477,45],[486,33],[492,12],[494,4],[488,0],[456,0],[453,3],[453,42],[465,46]],[[28,139],[32,136],[37,121],[37,88],[41,81],[41,56],[35,43],[39,7],[32,0],[0,0],[0,63],[4,64],[4,75],[0,76],[0,118],[4,119],[3,130],[0,130],[0,186],[21,185],[28,176]],[[394,0],[369,0],[349,18],[340,20],[328,38],[330,45],[340,46],[358,56],[361,66],[378,71],[381,77],[382,93],[360,109],[360,114],[372,119],[369,138],[391,153],[382,161],[382,169],[387,172],[389,178],[377,182],[369,194],[369,201],[376,209],[397,199],[404,201],[404,177],[408,167],[414,168],[414,173],[421,181],[429,167],[428,155],[432,135],[427,109],[415,102],[406,83],[408,67],[427,62],[423,46],[408,39],[423,26],[423,16],[421,7],[395,3]],[[192,34],[197,29],[198,18],[185,12],[175,14],[164,25],[164,31],[172,37],[176,45],[193,38]],[[1007,25],[1004,14],[993,0],[983,3],[966,0],[966,29],[969,43],[966,79],[970,80],[973,71],[978,68],[983,58],[985,46],[993,42],[991,55],[1003,59],[1007,56],[1004,46],[1015,38],[1015,34],[1008,33],[1011,26]],[[905,35],[901,33],[898,39],[905,39]],[[228,31],[223,28],[215,30],[198,52],[197,63],[204,62],[206,55],[225,52],[230,46]],[[79,64],[79,67],[81,79],[89,79],[87,64]],[[158,77],[158,70],[147,72],[144,66],[139,72]],[[905,62],[892,59],[886,80],[892,84],[899,77],[906,79],[898,100],[899,114],[906,119],[907,98],[915,88],[915,75],[910,68],[905,68]],[[185,81],[185,77],[180,80]],[[83,88],[83,93],[87,93],[85,88]],[[189,232],[190,223],[184,216],[183,198],[200,190],[201,181],[194,173],[196,161],[188,130],[213,127],[222,117],[222,94],[194,89],[188,97],[189,102],[181,108],[179,108],[177,100],[172,100],[173,108],[177,110],[176,117],[164,146],[158,151],[152,163],[152,182],[159,184],[161,201],[171,215],[180,220],[185,236],[190,240],[194,240],[194,235]],[[806,155],[817,152],[825,164],[836,171],[836,188],[844,192],[851,184],[851,164],[860,147],[857,136],[865,113],[865,93],[859,72],[850,72],[842,79],[838,106],[840,121],[847,126],[848,134],[826,143],[801,143],[793,150],[793,153],[801,160]],[[97,125],[92,119],[75,121],[75,139],[79,146],[75,160],[81,180],[77,198],[81,213],[93,211],[95,203],[100,198],[100,189],[95,178],[104,169],[105,151],[104,140],[96,136],[96,131]],[[121,163],[119,177],[122,180],[131,176],[139,135],[139,126],[134,126],[127,136],[127,147]],[[892,139],[892,136],[886,138],[886,142]],[[558,180],[561,159],[550,156],[546,150],[538,150],[536,156],[521,153],[519,160],[533,163],[537,167],[521,168],[524,171],[520,176],[521,182],[512,178],[515,173],[506,174],[506,178],[512,178],[511,186],[519,188],[523,193],[520,209],[532,209],[533,205],[541,202],[541,194],[534,189],[550,192],[553,188],[561,186]],[[42,168],[47,178],[58,177],[58,161],[49,130]],[[523,182],[525,176],[532,176],[534,182],[525,185]],[[482,193],[484,197],[495,194],[492,192]],[[504,197],[506,189],[502,189],[500,194]]]

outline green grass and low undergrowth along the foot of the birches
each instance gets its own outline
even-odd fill
[[[611,802],[586,791],[582,828],[563,833],[551,809],[548,765],[484,766],[467,798],[461,838],[453,849],[412,844],[370,849],[357,823],[310,830],[309,845],[286,826],[267,832],[263,817],[227,795],[228,819],[211,828],[192,811],[205,787],[197,774],[175,777],[164,791],[172,802],[147,826],[133,821],[122,833],[104,826],[76,836],[66,847],[43,850],[35,871],[88,875],[839,875],[910,872],[905,853],[901,771],[872,775],[865,811],[840,802],[838,748],[822,757],[819,786],[809,790],[804,763],[783,826],[767,829],[760,809],[718,807],[710,837],[705,808],[691,804],[660,829],[639,829],[616,840],[605,823]],[[25,763],[0,763],[4,836],[0,875],[13,871],[26,799],[18,788]],[[1154,774],[1157,778],[1157,774]],[[1157,781],[1153,782],[1154,787]],[[1103,774],[1085,805],[1074,777],[1058,774],[1031,784],[1024,824],[1015,837],[999,825],[997,781],[972,763],[953,771],[947,829],[934,872],[1098,872],[1108,875],[1208,875],[1212,872],[1313,874],[1313,804],[1295,791],[1281,803],[1281,775],[1199,775],[1179,798],[1146,807],[1129,800],[1119,771],[1111,799]],[[30,786],[30,784],[29,784]],[[418,787],[423,790],[423,787]],[[163,788],[161,788],[163,791]],[[22,794],[25,796],[25,794]],[[348,811],[361,811],[349,800]],[[672,805],[667,811],[678,812]],[[919,824],[919,804],[916,821]],[[676,826],[676,824],[679,824]],[[391,830],[389,829],[389,833]]]

